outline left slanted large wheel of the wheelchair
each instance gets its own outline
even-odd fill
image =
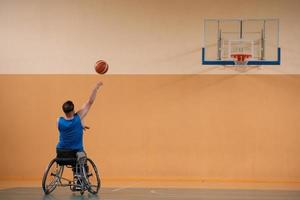
[[[55,158],[49,163],[42,181],[42,187],[45,194],[50,194],[53,190],[55,190],[57,184],[60,182],[63,170],[64,166],[57,164]]]

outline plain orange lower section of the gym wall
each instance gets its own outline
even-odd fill
[[[107,75],[86,124],[106,180],[300,181],[298,75]],[[99,76],[1,75],[0,179],[39,179]],[[77,106],[77,107],[78,107]]]

